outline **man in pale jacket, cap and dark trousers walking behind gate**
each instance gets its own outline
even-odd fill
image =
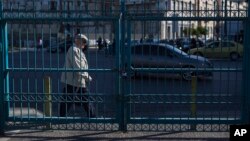
[[[88,62],[83,51],[86,51],[88,38],[83,34],[77,34],[75,45],[70,47],[65,60],[64,68],[68,70],[87,70]],[[65,84],[63,89],[63,101],[60,103],[60,116],[67,116],[72,104],[83,106],[88,117],[95,117],[94,106],[89,103],[87,84],[92,80],[86,71],[66,71],[62,73],[61,82]],[[77,102],[74,102],[74,101]]]

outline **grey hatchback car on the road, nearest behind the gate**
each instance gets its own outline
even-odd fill
[[[188,55],[168,44],[143,43],[131,46],[132,68],[203,68],[204,71],[181,71],[183,79],[191,80],[192,76],[211,76],[205,68],[212,68],[211,62],[200,56]],[[137,75],[135,72],[134,75]]]

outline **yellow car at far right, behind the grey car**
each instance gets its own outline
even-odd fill
[[[189,54],[207,58],[230,58],[237,60],[243,55],[243,46],[233,41],[213,41],[203,48],[189,50]]]

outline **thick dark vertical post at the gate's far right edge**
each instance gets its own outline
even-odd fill
[[[247,9],[247,19],[244,21],[244,54],[243,54],[243,72],[242,72],[242,80],[243,80],[243,91],[241,95],[241,99],[243,102],[241,118],[243,123],[250,123],[250,88],[249,88],[249,80],[250,80],[250,62],[249,62],[249,54],[250,54],[250,27],[248,23],[250,22],[250,1],[248,1],[248,9]]]

